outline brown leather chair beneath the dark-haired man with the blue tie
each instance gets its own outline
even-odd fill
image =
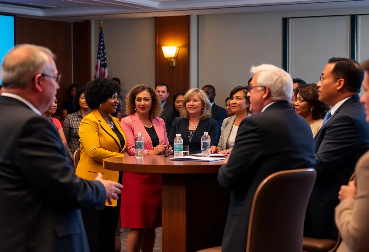
[[[349,181],[355,180],[355,172],[351,175]],[[338,192],[337,192],[338,197]],[[337,240],[317,239],[317,238],[303,238],[304,252],[335,252],[341,243],[341,237],[338,232]]]

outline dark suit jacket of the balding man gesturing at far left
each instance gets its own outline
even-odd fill
[[[80,179],[50,120],[0,96],[0,251],[87,252],[81,209],[103,209],[99,181]]]

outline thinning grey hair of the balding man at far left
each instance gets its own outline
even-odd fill
[[[54,53],[44,46],[16,45],[7,52],[1,64],[1,82],[3,86],[7,88],[27,88],[36,74],[50,70],[48,56],[55,59]]]

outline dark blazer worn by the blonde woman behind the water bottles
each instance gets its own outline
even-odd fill
[[[204,132],[208,132],[210,136],[210,146],[217,142],[218,126],[217,121],[212,118],[201,119],[193,134],[191,143],[188,141],[188,123],[189,119],[177,117],[170,131],[169,144],[173,147],[173,141],[176,134],[181,134],[183,144],[190,146],[190,154],[201,153],[201,137]]]

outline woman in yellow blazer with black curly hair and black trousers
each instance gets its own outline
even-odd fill
[[[119,120],[110,115],[117,109],[120,92],[120,85],[107,78],[97,78],[86,84],[86,103],[92,112],[82,119],[79,126],[81,154],[76,175],[81,178],[94,179],[100,172],[103,179],[122,182],[122,172],[105,170],[103,167],[104,158],[123,157],[122,152],[127,146]],[[115,250],[120,197],[113,204],[105,205],[103,211],[82,211],[91,252]]]

